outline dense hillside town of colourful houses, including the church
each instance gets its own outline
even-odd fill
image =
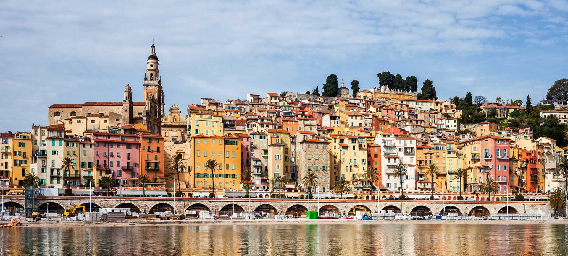
[[[110,195],[108,187],[143,186],[154,189],[144,192],[150,195],[176,190],[176,197],[215,189],[270,198],[304,198],[308,191],[374,199],[378,190],[461,197],[483,194],[485,184],[502,195],[566,186],[564,141],[536,136],[538,127],[520,118],[532,112],[566,123],[562,102],[473,102],[469,92],[442,100],[435,88],[433,95],[424,87],[419,93],[378,74],[379,84],[361,91],[358,82],[350,89],[334,75],[321,95],[319,88],[255,91],[166,109],[158,65],[152,45],[143,101],[134,101],[126,84],[120,101],[65,100],[49,106],[47,124],[30,120],[28,131],[2,133],[3,193],[23,193],[30,179],[55,195],[66,187],[75,195],[91,189]],[[511,118],[521,124],[509,126]]]

